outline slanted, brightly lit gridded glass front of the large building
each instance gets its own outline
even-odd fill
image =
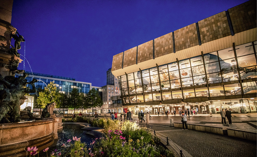
[[[256,41],[118,76],[123,104],[256,93],[255,50]],[[233,108],[245,112],[242,102]]]

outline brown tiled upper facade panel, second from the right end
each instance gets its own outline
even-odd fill
[[[202,43],[231,35],[225,11],[199,21],[198,25]]]

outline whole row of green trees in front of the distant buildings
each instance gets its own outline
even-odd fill
[[[78,89],[73,88],[68,96],[58,91],[54,81],[50,82],[45,89],[38,89],[37,93],[34,94],[34,108],[39,108],[41,112],[41,109],[52,102],[56,103],[56,108],[73,108],[74,112],[75,109],[88,109],[103,105],[98,91],[94,88],[86,95],[79,93]]]

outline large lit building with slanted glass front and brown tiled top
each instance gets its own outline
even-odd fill
[[[256,112],[253,6],[248,1],[113,56],[123,108]]]

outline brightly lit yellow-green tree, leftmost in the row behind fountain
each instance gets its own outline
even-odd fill
[[[37,106],[41,108],[45,108],[48,103],[55,102],[56,105],[60,105],[60,93],[57,91],[56,84],[50,82],[45,89],[39,92],[39,96],[37,98]]]

